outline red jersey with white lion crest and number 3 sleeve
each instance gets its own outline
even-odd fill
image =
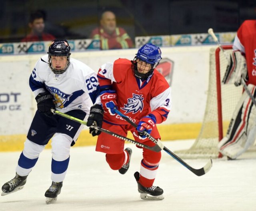
[[[112,86],[116,90],[118,109],[132,121],[138,122],[150,113],[156,118],[156,123],[166,120],[172,103],[171,88],[156,69],[147,80],[140,80],[134,76],[130,60],[118,59],[101,66],[98,80],[101,88]],[[119,115],[108,113],[104,114],[104,121],[128,124]]]

